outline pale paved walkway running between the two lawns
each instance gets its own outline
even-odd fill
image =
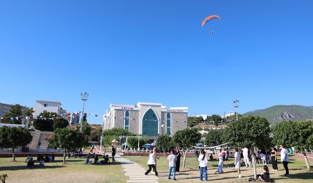
[[[158,178],[154,174],[145,175],[146,170],[139,164],[119,155],[115,155],[115,160],[121,163],[125,176],[129,177],[130,180],[127,180],[127,183],[158,183]]]

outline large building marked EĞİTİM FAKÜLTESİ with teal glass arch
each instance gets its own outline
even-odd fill
[[[123,128],[134,134],[174,135],[188,127],[188,107],[170,107],[162,103],[138,102],[136,105],[110,104],[103,115],[103,129]]]

